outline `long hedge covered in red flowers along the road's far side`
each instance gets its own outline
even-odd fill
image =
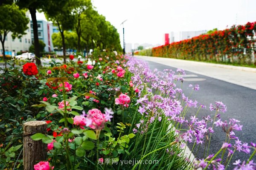
[[[152,48],[154,57],[255,65],[256,22]],[[141,51],[139,55],[149,54]]]

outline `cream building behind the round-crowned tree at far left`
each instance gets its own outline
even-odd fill
[[[26,12],[26,17],[29,18],[29,11]],[[4,43],[5,46],[5,54],[15,56],[18,51],[29,51],[29,47],[32,45],[31,38],[31,27],[30,23],[28,23],[28,29],[25,31],[26,34],[21,38],[12,39],[12,32],[9,32],[6,36],[6,41]],[[2,45],[0,45],[0,54],[3,53]]]

